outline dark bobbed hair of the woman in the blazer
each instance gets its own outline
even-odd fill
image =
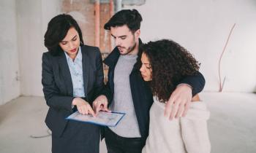
[[[61,14],[53,17],[48,23],[45,32],[45,47],[52,55],[59,55],[63,50],[59,46],[59,42],[65,38],[69,28],[75,28],[80,37],[80,46],[83,45],[83,35],[78,23],[71,15]]]

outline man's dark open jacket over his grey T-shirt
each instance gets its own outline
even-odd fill
[[[142,42],[140,41],[140,45]],[[137,63],[132,69],[131,74],[129,74],[129,82],[132,92],[132,101],[135,107],[135,114],[138,120],[138,125],[140,129],[140,135],[143,139],[143,143],[146,142],[146,138],[148,136],[148,129],[149,129],[149,110],[153,103],[153,95],[151,93],[151,89],[147,82],[145,82],[140,74],[140,58],[141,58],[142,51],[139,50]],[[113,93],[114,93],[114,71],[116,67],[116,63],[120,53],[118,48],[116,47],[108,58],[104,60],[104,63],[109,66],[108,70],[108,82],[105,86],[105,90],[102,91],[103,95],[106,95],[108,98],[108,103],[111,103],[113,100]],[[192,93],[193,95],[200,93],[203,90],[205,85],[205,79],[203,75],[198,72],[195,76],[187,76],[180,83],[187,83],[193,87]]]

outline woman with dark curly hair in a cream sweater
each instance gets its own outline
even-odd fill
[[[165,117],[165,102],[185,76],[197,73],[200,63],[171,40],[148,42],[142,47],[141,75],[154,95],[150,110],[149,135],[143,153],[208,153],[207,120],[209,111],[198,95],[192,99],[186,117],[170,120]]]

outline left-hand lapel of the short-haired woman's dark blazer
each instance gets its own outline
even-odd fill
[[[61,76],[64,78],[64,84],[67,88],[67,94],[70,96],[73,96],[73,84],[72,84],[72,78],[69,71],[69,65],[67,64],[67,58],[63,53],[59,56],[59,68],[61,71]]]

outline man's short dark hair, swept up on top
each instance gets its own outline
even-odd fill
[[[135,33],[135,31],[140,29],[141,21],[142,17],[138,10],[123,9],[113,15],[113,17],[108,20],[108,23],[105,23],[104,29],[109,31],[111,27],[127,25],[129,30]]]

